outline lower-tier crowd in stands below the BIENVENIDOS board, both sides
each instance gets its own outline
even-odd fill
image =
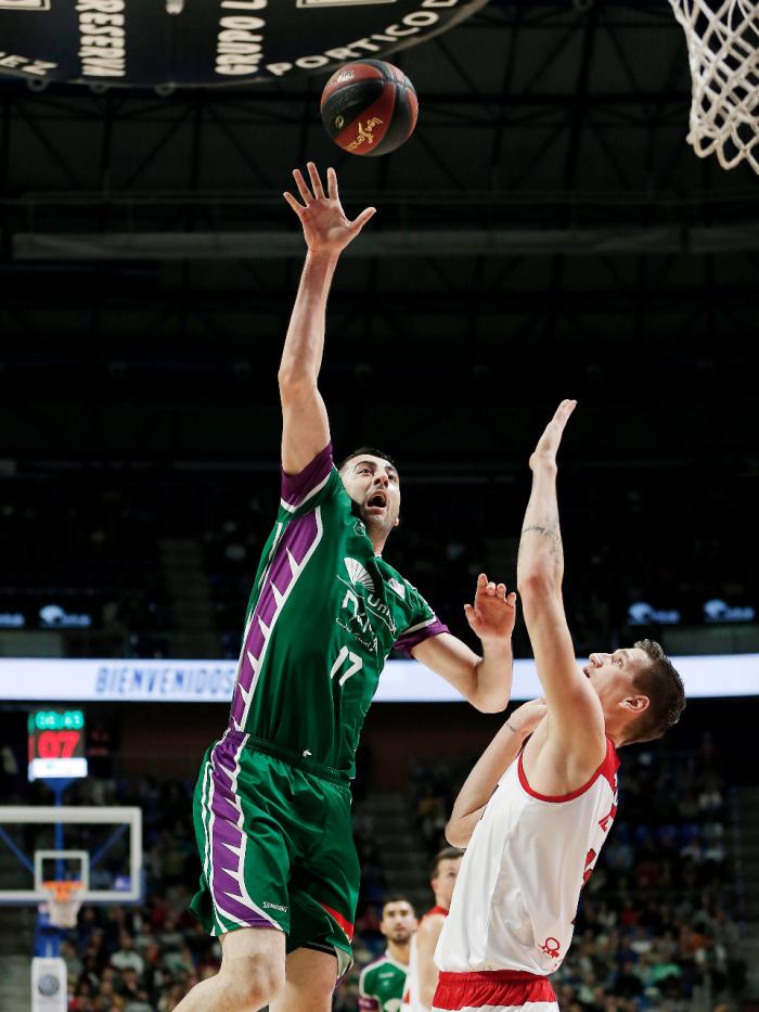
[[[473,758],[410,764],[410,821],[430,855],[443,843]],[[635,746],[622,759],[619,815],[583,891],[574,945],[552,978],[562,1012],[732,1008],[746,968],[729,847],[731,792],[713,743],[705,735],[687,753],[666,743]],[[355,1012],[359,971],[385,946],[378,928],[387,885],[362,804],[369,761],[362,751],[353,822],[362,868],[357,965],[335,994],[339,1012]],[[62,947],[69,1009],[170,1012],[195,981],[218,969],[218,941],[188,910],[198,874],[192,787],[150,778],[91,778],[72,787],[69,804],[142,808],[146,898],[139,907],[82,908]],[[44,803],[46,789],[34,790],[33,799]],[[420,876],[422,884],[422,869]]]

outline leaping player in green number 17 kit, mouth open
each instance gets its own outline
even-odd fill
[[[308,175],[310,184],[294,172],[300,201],[285,194],[307,255],[279,371],[281,505],[248,603],[229,727],[194,798],[203,869],[192,910],[221,938],[221,970],[181,1012],[331,1009],[352,961],[360,878],[349,784],[394,648],[479,709],[503,709],[511,692],[515,595],[479,577],[465,611],[480,657],[382,558],[400,509],[390,458],[363,448],[333,463],[318,387],[326,299],[340,253],[374,208],[349,221],[334,170],[326,193],[312,163]]]

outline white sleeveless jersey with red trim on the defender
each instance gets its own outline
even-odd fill
[[[435,951],[441,971],[556,971],[575,931],[580,889],[617,814],[619,760],[606,757],[584,786],[549,797],[509,767],[475,827]]]

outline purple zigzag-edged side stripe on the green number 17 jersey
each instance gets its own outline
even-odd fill
[[[319,530],[316,512],[306,513],[287,525],[282,540],[276,546],[274,558],[263,580],[245,643],[240,654],[240,667],[231,710],[232,720],[237,728],[243,727],[246,716],[246,700],[258,675],[258,662],[266,650],[267,633],[261,628],[261,623],[268,629],[271,629],[274,625],[284,603],[281,599],[286,595],[297,579],[297,573],[293,572],[293,562],[296,567],[303,565],[306,556],[319,540]],[[272,587],[275,587],[279,591],[279,603]],[[253,663],[250,658],[253,658]]]

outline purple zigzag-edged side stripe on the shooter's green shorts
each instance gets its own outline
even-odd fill
[[[250,927],[271,927],[273,922],[258,913],[243,896],[244,841],[239,825],[241,809],[233,786],[237,772],[235,756],[243,741],[243,734],[230,731],[211,753],[209,885],[220,913]]]

